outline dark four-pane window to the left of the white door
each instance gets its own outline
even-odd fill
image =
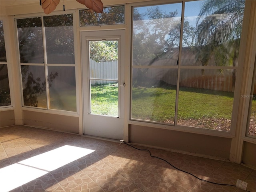
[[[17,30],[23,106],[76,112],[73,15],[17,19]]]

